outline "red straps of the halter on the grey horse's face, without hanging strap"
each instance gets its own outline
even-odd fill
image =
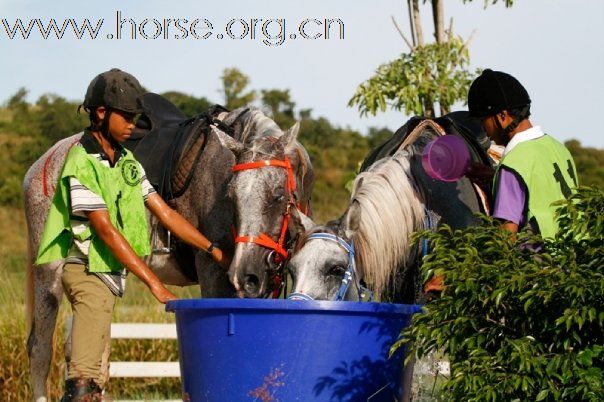
[[[277,253],[275,258],[275,262],[279,263],[284,261],[288,257],[287,250],[285,249],[285,236],[287,235],[287,227],[289,225],[289,219],[291,216],[290,208],[295,205],[295,196],[294,193],[296,191],[296,178],[294,177],[294,171],[292,169],[292,165],[289,161],[289,158],[286,156],[284,160],[262,160],[256,162],[248,162],[248,163],[240,163],[238,165],[233,166],[233,172],[240,172],[242,170],[249,169],[258,169],[263,167],[280,167],[287,171],[287,179],[285,181],[285,189],[287,191],[289,201],[287,203],[287,209],[283,214],[283,224],[281,225],[281,233],[279,235],[278,241],[273,240],[266,233],[260,233],[258,236],[237,236],[235,235],[235,243],[254,243],[261,247],[268,248]]]

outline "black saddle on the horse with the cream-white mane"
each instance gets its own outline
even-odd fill
[[[377,160],[386,156],[392,156],[405,141],[407,136],[417,127],[419,123],[426,120],[425,117],[412,117],[401,128],[381,145],[369,153],[361,165],[361,172],[364,172]],[[436,119],[432,119],[441,126],[447,134],[454,134],[462,137],[468,148],[473,162],[480,162],[485,165],[491,164],[487,155],[490,141],[482,127],[469,116],[469,112],[453,112]]]

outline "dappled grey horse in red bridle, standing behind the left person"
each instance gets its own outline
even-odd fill
[[[192,173],[190,185],[174,200],[174,207],[208,239],[219,243],[224,251],[231,254],[235,251],[233,228],[273,233],[274,223],[281,221],[286,208],[289,207],[289,204],[275,203],[280,197],[276,193],[283,192],[283,169],[250,170],[231,182],[232,168],[238,160],[249,160],[257,155],[254,151],[257,149],[262,150],[263,156],[270,155],[271,158],[284,158],[288,155],[295,180],[298,182],[301,203],[308,203],[313,175],[308,155],[296,141],[298,125],[284,133],[274,121],[257,109],[241,108],[222,113],[218,119],[231,126],[234,130],[233,136],[227,135],[216,125],[211,126],[205,149]],[[81,133],[65,138],[51,147],[31,166],[23,182],[29,232],[27,306],[30,325],[27,347],[34,400],[37,402],[47,400],[46,380],[63,289],[61,262],[35,267],[33,262],[63,162],[68,150],[80,136]],[[248,149],[249,152],[246,151]],[[238,155],[243,159],[238,158]],[[265,207],[267,205],[271,207]],[[161,250],[165,249],[166,245],[167,235],[163,230],[159,230],[153,236],[153,248]],[[251,255],[247,256],[247,253]],[[242,263],[256,267],[258,272],[267,270],[269,266],[265,254],[268,254],[268,251],[256,245],[238,245],[230,275],[237,278],[242,270]],[[194,261],[204,297],[233,297],[240,290],[230,283],[229,274],[204,252],[195,252],[191,261]],[[172,253],[154,253],[146,258],[146,262],[166,284],[195,284],[183,273]],[[68,351],[69,345],[66,346]],[[107,356],[108,353],[105,353],[102,368],[106,374]]]

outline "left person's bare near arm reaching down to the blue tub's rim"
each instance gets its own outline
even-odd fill
[[[113,226],[106,209],[86,211],[85,213],[96,234],[107,244],[115,258],[142,280],[157,300],[165,303],[168,300],[176,299],[176,296],[164,287],[147,264],[132,250],[132,247],[130,247],[124,236]]]

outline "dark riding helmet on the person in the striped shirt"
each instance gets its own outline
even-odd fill
[[[84,97],[85,109],[105,106],[129,113],[140,113],[140,97],[145,93],[133,75],[112,68],[94,77]]]

